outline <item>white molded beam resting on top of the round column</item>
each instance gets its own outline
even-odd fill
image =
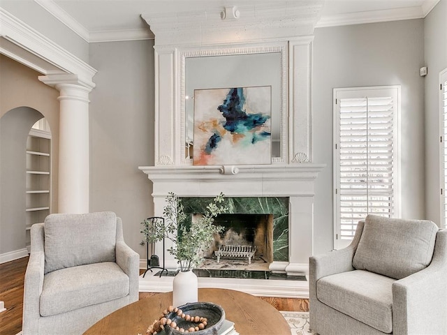
[[[96,69],[3,8],[0,8],[0,36],[16,46],[14,50],[5,52],[8,57],[38,69],[45,75],[57,72],[78,75],[80,81],[94,87],[92,79],[97,72]]]

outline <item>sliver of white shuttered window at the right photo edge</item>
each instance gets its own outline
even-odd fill
[[[447,228],[447,68],[439,75],[441,115],[441,225]]]

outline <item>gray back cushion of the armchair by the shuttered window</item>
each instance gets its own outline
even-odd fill
[[[401,279],[432,261],[438,227],[432,221],[368,215],[353,267]]]

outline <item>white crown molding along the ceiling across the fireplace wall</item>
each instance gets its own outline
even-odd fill
[[[78,34],[87,43],[99,42],[118,42],[122,40],[147,40],[154,39],[154,34],[149,29],[126,29],[126,30],[109,30],[109,31],[88,31],[75,18],[66,13],[53,0],[34,0],[42,6],[48,13],[52,14],[60,22],[66,25],[69,29]],[[327,1],[327,0],[326,0]],[[424,0],[422,6],[415,6],[411,8],[397,8],[392,10],[374,10],[359,13],[348,13],[343,15],[330,15],[321,17],[319,19],[318,12],[321,10],[323,1],[318,0],[311,4],[310,1],[300,1],[298,4],[288,3],[286,6],[274,3],[274,5],[258,5],[258,6],[237,6],[239,17],[234,17],[231,21],[232,28],[228,29],[230,24],[220,24],[225,20],[216,20],[214,24],[210,25],[212,17],[219,17],[223,7],[208,8],[207,11],[199,12],[183,12],[183,13],[143,13],[141,16],[147,22],[159,25],[158,30],[172,34],[173,31],[184,31],[182,37],[188,36],[195,30],[205,30],[215,32],[222,31],[231,33],[232,31],[243,31],[245,28],[259,29],[261,24],[270,28],[276,27],[282,29],[284,27],[291,27],[291,24],[300,25],[299,34],[309,34],[305,31],[303,26],[307,24],[313,28],[344,26],[349,24],[367,24],[376,22],[388,22],[399,20],[420,19],[428,15],[434,6],[440,0]],[[296,8],[299,8],[296,10]],[[294,16],[293,16],[294,15]],[[250,18],[251,17],[251,18]],[[289,18],[288,18],[289,17]],[[306,18],[307,17],[307,20]],[[247,20],[248,19],[248,20]],[[318,20],[319,19],[319,20]],[[176,21],[175,26],[172,24]],[[227,20],[228,21],[228,20]],[[307,22],[306,22],[307,21]],[[318,22],[317,22],[318,21]],[[242,23],[244,22],[244,23]],[[163,27],[164,26],[164,27]],[[257,27],[257,28],[254,28]],[[307,29],[309,30],[309,29]],[[162,32],[157,35],[161,36]],[[312,34],[312,31],[311,33]],[[259,40],[260,38],[254,38]],[[262,38],[261,38],[262,39]],[[253,38],[252,38],[253,40]]]

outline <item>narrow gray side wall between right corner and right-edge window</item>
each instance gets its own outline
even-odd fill
[[[447,0],[424,20],[425,27],[425,207],[427,218],[440,223],[439,73],[447,68]]]

